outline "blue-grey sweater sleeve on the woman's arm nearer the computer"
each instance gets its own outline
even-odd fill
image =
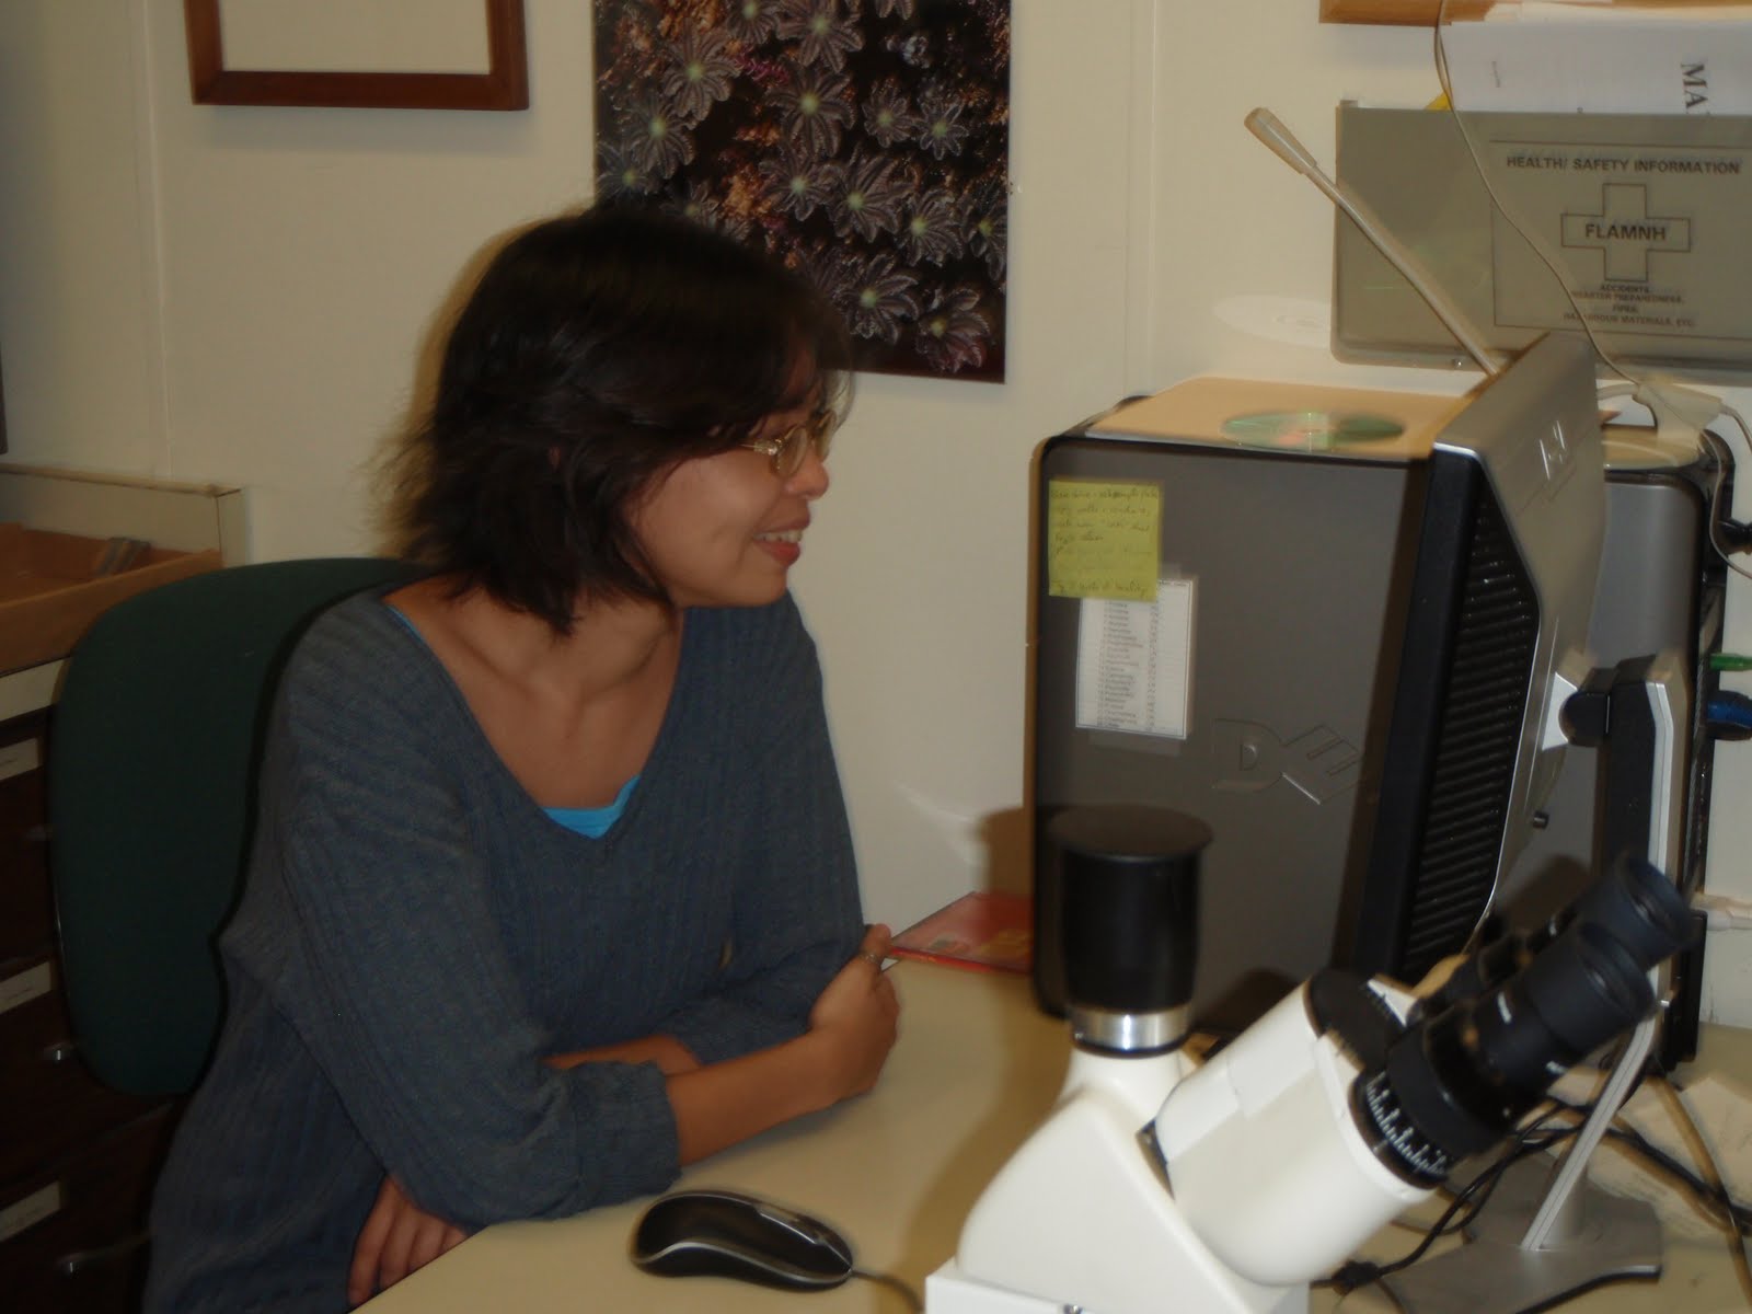
[[[864,934],[820,662],[788,596],[760,613],[729,676],[769,690],[745,722],[748,806],[762,820],[739,858],[731,960],[718,990],[666,1027],[706,1063],[801,1035]]]

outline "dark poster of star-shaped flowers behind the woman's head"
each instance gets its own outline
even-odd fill
[[[1009,0],[596,0],[599,196],[806,272],[858,368],[1004,378]]]

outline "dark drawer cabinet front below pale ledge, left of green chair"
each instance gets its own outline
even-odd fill
[[[177,1104],[79,1062],[47,867],[47,715],[0,722],[0,1291],[14,1314],[138,1305],[145,1211]]]

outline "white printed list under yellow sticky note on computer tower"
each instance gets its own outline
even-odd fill
[[[1153,603],[1084,597],[1077,618],[1077,729],[1186,738],[1193,582],[1162,580]]]

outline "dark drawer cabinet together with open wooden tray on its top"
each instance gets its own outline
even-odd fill
[[[245,494],[0,466],[0,1312],[131,1310],[182,1102],[121,1095],[74,1048],[47,865],[49,704],[58,659],[98,611],[244,557]]]

